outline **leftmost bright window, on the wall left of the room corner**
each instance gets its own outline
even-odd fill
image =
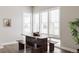
[[[31,14],[23,13],[23,33],[31,33]]]

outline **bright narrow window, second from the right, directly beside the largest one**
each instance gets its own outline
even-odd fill
[[[48,34],[48,12],[40,13],[40,33]]]

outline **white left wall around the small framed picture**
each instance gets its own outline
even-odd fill
[[[21,38],[23,13],[32,13],[31,7],[0,7],[0,44],[15,42]],[[11,18],[11,27],[3,26],[3,18]]]

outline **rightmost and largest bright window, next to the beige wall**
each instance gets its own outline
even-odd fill
[[[59,9],[49,10],[49,34],[59,35]]]

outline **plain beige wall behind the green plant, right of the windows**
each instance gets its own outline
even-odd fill
[[[70,33],[69,22],[75,20],[74,18],[79,18],[79,7],[61,7],[60,17],[61,47],[64,47],[71,51],[75,51],[74,49],[76,49],[76,47]]]

